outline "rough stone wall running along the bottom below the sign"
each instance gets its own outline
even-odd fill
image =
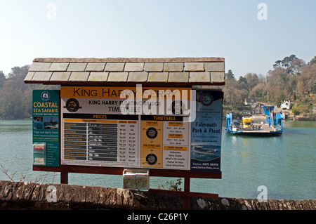
[[[183,197],[110,187],[39,184],[0,180],[0,209],[180,210]],[[194,210],[315,210],[316,200],[190,198]]]

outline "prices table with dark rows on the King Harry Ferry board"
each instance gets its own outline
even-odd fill
[[[138,166],[138,120],[63,119],[62,164]]]

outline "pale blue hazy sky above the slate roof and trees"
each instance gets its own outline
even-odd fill
[[[34,58],[225,58],[235,77],[316,55],[315,0],[0,0],[0,70]]]

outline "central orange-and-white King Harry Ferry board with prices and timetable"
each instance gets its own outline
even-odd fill
[[[62,86],[60,91],[62,164],[190,169],[191,124],[184,111],[190,109],[191,88]]]

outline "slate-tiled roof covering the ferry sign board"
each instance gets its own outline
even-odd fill
[[[224,58],[36,58],[28,84],[224,85]]]

